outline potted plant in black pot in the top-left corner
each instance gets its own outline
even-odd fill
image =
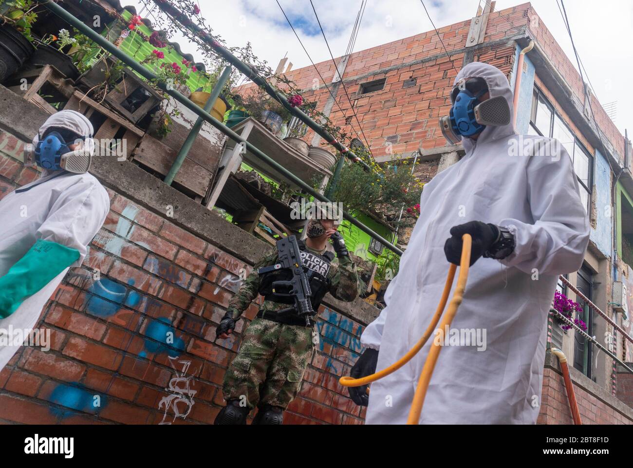
[[[0,6],[0,82],[20,70],[35,51],[31,44],[35,5],[33,0],[14,0]]]

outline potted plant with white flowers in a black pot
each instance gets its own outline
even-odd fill
[[[53,65],[66,78],[71,80],[77,79],[79,70],[73,63],[72,56],[65,54],[62,49],[72,50],[77,46],[78,41],[75,37],[70,36],[67,29],[60,29],[58,34],[50,34],[46,38],[35,39],[37,49],[35,53],[28,59],[27,68],[33,70],[41,68],[44,65]]]

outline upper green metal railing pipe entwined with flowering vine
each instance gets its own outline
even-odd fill
[[[295,115],[296,117],[299,118],[299,120],[306,123],[308,127],[314,130],[316,134],[323,137],[325,141],[327,141],[329,144],[334,146],[334,148],[340,151],[342,155],[354,161],[354,163],[361,164],[363,168],[365,168],[365,170],[368,170],[370,172],[372,171],[372,168],[370,168],[367,165],[367,163],[365,163],[365,161],[361,160],[360,157],[356,156],[351,149],[342,145],[341,142],[337,141],[337,139],[335,139],[334,136],[332,136],[332,134],[327,132],[325,129],[323,129],[323,127],[321,127],[321,125],[319,125],[310,117],[308,117],[308,115],[306,115],[301,109],[299,109],[298,107],[291,106],[291,104],[288,102],[285,96],[281,94],[280,92],[277,92],[277,90],[275,90],[270,84],[268,84],[268,82],[266,82],[265,79],[260,77],[260,75],[258,75],[258,73],[255,70],[253,70],[251,66],[239,60],[239,58],[237,58],[234,54],[232,54],[228,49],[223,47],[222,44],[216,41],[213,38],[213,36],[211,36],[208,32],[206,32],[199,26],[192,23],[189,16],[186,16],[184,13],[182,13],[179,9],[177,9],[172,4],[168,3],[166,0],[154,0],[154,3],[156,3],[156,5],[158,5],[158,8],[160,8],[167,15],[172,16],[184,27],[192,30],[192,32],[196,35],[196,37],[198,37],[199,39],[201,39],[201,41],[204,41],[206,44],[211,46],[213,50],[216,51],[216,53],[222,56],[224,60],[234,65],[235,68],[237,68],[237,70],[244,73],[244,75],[246,75],[248,79],[253,80],[253,82],[256,85],[263,87],[263,89],[268,94],[270,94],[270,96],[277,99],[277,101],[279,101],[279,103],[281,103],[290,113],[292,113],[292,115]]]

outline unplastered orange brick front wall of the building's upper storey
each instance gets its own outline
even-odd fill
[[[529,7],[522,4],[492,13],[484,44],[470,49],[472,60],[497,66],[509,79],[515,60],[515,42],[510,38],[527,24]],[[514,28],[508,25],[508,20]],[[446,146],[439,129],[439,116],[450,109],[449,95],[468,50],[465,45],[469,28],[470,18],[439,28],[439,37],[450,59],[434,30],[351,54],[343,73],[346,89],[339,86],[335,92],[337,104],[330,113],[332,122],[349,136],[368,144],[375,157]],[[332,60],[317,63],[316,69],[331,89],[335,73]],[[319,110],[325,108],[330,94],[313,66],[292,70],[286,76],[304,90],[304,98],[316,101]],[[360,84],[383,78],[384,89],[356,96]],[[244,92],[251,86],[244,85],[236,91]],[[311,142],[313,136],[310,130],[304,139]]]

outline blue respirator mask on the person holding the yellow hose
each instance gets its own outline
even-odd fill
[[[510,123],[510,106],[503,96],[479,103],[479,98],[487,91],[482,79],[468,80],[454,87],[451,92],[453,107],[449,115],[439,119],[442,134],[449,143],[457,144],[463,136],[475,136],[487,125],[501,127]]]

